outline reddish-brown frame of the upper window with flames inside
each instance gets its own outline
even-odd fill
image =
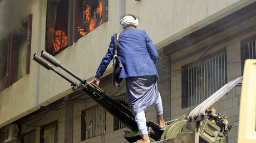
[[[47,1],[48,2],[48,1]],[[52,54],[56,55],[60,53],[62,50],[66,49],[70,45],[73,45],[73,42],[77,42],[78,39],[82,38],[83,35],[81,35],[78,32],[78,27],[83,26],[83,3],[85,0],[68,0],[68,18],[67,18],[67,30],[66,30],[66,35],[67,35],[67,45],[65,48],[58,50],[56,53],[51,53],[47,49],[47,41],[45,44],[45,50]],[[102,0],[102,23],[108,21],[108,7],[109,7],[109,0]],[[47,6],[48,9],[48,6]],[[46,17],[47,19],[47,17]],[[96,29],[96,28],[95,28]],[[47,27],[46,27],[46,32],[47,32]],[[46,35],[47,39],[47,35]]]

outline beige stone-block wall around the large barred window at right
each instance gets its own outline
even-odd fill
[[[211,45],[216,44],[211,48],[205,55],[215,52],[221,48],[227,48],[227,78],[228,82],[234,79],[237,79],[241,75],[241,58],[240,58],[240,41],[255,35],[256,32],[253,30],[247,30],[249,28],[255,27],[256,17],[250,18],[248,21],[245,21],[239,25],[236,25],[232,28],[224,30],[213,37],[205,39],[204,41],[197,43],[187,49],[181,50],[178,53],[175,53],[169,57],[169,61],[173,61],[180,57],[186,57],[187,54],[193,53],[198,49],[202,49]],[[235,34],[236,33],[236,34]],[[240,33],[240,34],[238,34]],[[237,35],[238,34],[238,35]],[[225,38],[231,37],[229,40],[224,40]],[[185,58],[179,62],[171,64],[169,67],[171,69],[171,98],[170,98],[170,117],[171,119],[179,118],[181,115],[188,113],[188,111],[193,110],[195,106],[190,106],[188,108],[181,108],[181,66],[193,62],[198,59],[204,52],[198,53],[193,57]],[[166,70],[169,72],[169,69]],[[227,115],[228,121],[232,124],[233,128],[229,131],[229,142],[237,142],[238,136],[238,122],[239,122],[239,105],[240,105],[240,94],[241,87],[237,86],[230,90],[227,95],[224,95],[223,98],[218,100],[213,108],[216,109],[217,113]],[[169,113],[166,113],[166,115]]]

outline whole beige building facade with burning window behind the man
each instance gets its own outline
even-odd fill
[[[2,0],[0,7],[0,142],[16,140],[6,134],[17,127],[18,142],[127,142],[123,136],[129,129],[31,60],[46,50],[92,79],[110,36],[122,31],[119,21],[125,14],[139,18],[138,29],[159,52],[165,121],[193,110],[242,76],[245,59],[256,59],[255,1]],[[110,64],[100,88],[116,101],[125,100],[125,82],[113,86],[111,72]],[[229,142],[238,138],[240,93],[236,86],[213,105],[233,126]],[[146,111],[146,119],[156,122],[154,108]]]

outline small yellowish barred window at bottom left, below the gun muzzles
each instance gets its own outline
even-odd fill
[[[58,140],[58,124],[43,129],[43,142],[57,143]]]

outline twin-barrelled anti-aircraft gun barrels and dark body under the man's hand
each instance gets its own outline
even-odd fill
[[[141,139],[140,132],[138,130],[137,124],[134,120],[135,116],[132,115],[131,111],[126,109],[124,106],[120,105],[109,96],[105,94],[105,92],[96,86],[93,83],[88,82],[86,79],[80,78],[80,76],[73,73],[71,70],[63,66],[60,60],[53,57],[51,54],[42,50],[40,55],[36,53],[32,57],[38,64],[42,65],[48,70],[52,70],[53,72],[60,75],[62,78],[66,79],[71,83],[72,90],[81,90],[84,94],[94,100],[97,104],[102,106],[106,111],[108,111],[112,116],[114,116],[117,120],[121,121],[126,127],[128,127],[131,131],[126,131],[125,139],[129,142],[135,142],[136,140]],[[60,67],[65,70],[68,74],[72,75],[74,78],[80,81],[80,83],[76,83],[72,79],[68,78],[68,76],[59,72],[55,67]],[[90,89],[90,90],[87,90]],[[160,138],[159,135],[158,138]],[[151,139],[152,140],[152,139]],[[154,140],[152,140],[154,141]]]

